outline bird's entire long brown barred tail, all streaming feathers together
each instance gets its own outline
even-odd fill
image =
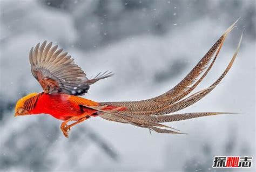
[[[237,23],[237,21],[235,22]],[[199,61],[199,63],[192,69],[187,76],[179,82],[178,85],[173,87],[170,91],[159,95],[156,98],[141,100],[141,101],[125,101],[125,102],[101,102],[100,107],[90,107],[94,108],[99,112],[102,112],[100,117],[116,122],[131,123],[139,127],[149,128],[158,133],[179,133],[168,129],[161,129],[159,127],[170,128],[165,125],[159,126],[161,122],[171,122],[186,120],[191,118],[198,118],[201,116],[210,116],[218,114],[227,114],[220,112],[203,112],[203,113],[187,113],[187,114],[171,114],[178,112],[188,106],[193,105],[200,99],[204,98],[205,95],[210,93],[225,77],[230,68],[232,67],[237,53],[239,51],[242,36],[240,38],[237,50],[235,51],[233,58],[226,67],[225,71],[221,76],[213,82],[208,88],[189,95],[194,88],[205,78],[207,73],[211,70],[215,59],[224,43],[224,40],[228,33],[233,29],[234,24],[232,24],[225,33],[217,40],[217,42],[211,47],[211,49],[205,54],[205,56]],[[210,61],[212,62],[210,63]],[[210,65],[208,65],[210,63]],[[207,66],[208,65],[208,66]],[[200,76],[201,75],[201,76]],[[199,77],[200,76],[200,77]],[[188,97],[187,97],[188,96]],[[111,110],[105,110],[107,107],[115,107]],[[120,108],[123,107],[123,108]]]

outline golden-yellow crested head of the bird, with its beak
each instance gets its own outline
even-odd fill
[[[29,115],[30,114],[29,111],[24,108],[24,103],[26,100],[28,100],[29,98],[31,98],[37,94],[38,93],[30,93],[30,94],[26,95],[25,97],[19,99],[15,106],[14,116]]]

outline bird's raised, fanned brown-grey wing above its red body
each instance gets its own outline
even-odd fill
[[[52,42],[46,45],[46,41],[35,49],[32,47],[29,53],[31,72],[43,87],[45,93],[65,93],[71,95],[83,95],[87,93],[90,85],[100,79],[110,77],[111,73],[87,79],[84,71],[75,64],[74,59],[62,52],[58,46],[52,46]]]

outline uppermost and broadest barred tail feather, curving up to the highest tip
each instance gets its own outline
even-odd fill
[[[217,42],[211,47],[211,49],[205,54],[205,56],[199,61],[199,63],[193,68],[193,70],[187,74],[187,76],[179,82],[178,85],[173,87],[170,91],[167,91],[166,93],[159,95],[156,98],[147,99],[147,100],[141,100],[141,101],[126,101],[126,102],[102,102],[101,105],[113,105],[113,106],[124,106],[126,107],[126,111],[122,112],[123,114],[142,114],[142,115],[148,115],[148,111],[152,111],[156,108],[163,108],[166,107],[166,105],[174,104],[175,102],[183,99],[191,93],[194,88],[196,88],[199,83],[205,78],[207,73],[211,70],[211,67],[213,66],[215,59],[217,58],[219,51],[224,43],[224,40],[228,33],[232,31],[234,28],[234,25],[238,22],[235,21],[228,29],[224,32],[224,34],[217,40]],[[214,59],[212,60],[212,63],[208,68],[206,67],[208,63],[211,61],[213,55],[215,54]],[[193,82],[195,82],[198,78],[198,76],[204,72],[204,70],[207,68],[205,73],[200,77],[200,79],[194,83],[191,87],[189,87]]]

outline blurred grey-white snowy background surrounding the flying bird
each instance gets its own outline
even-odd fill
[[[0,171],[223,171],[214,156],[255,156],[255,1],[1,0]],[[70,139],[50,115],[14,118],[18,99],[42,92],[30,73],[28,53],[44,40],[71,54],[90,77],[95,101],[155,97],[175,86],[237,18],[211,72],[209,86],[232,58],[223,84],[182,112],[243,112],[168,125],[188,135],[92,118]],[[255,158],[255,157],[254,157]],[[232,169],[233,171],[254,171]],[[228,169],[230,171],[230,169]]]

